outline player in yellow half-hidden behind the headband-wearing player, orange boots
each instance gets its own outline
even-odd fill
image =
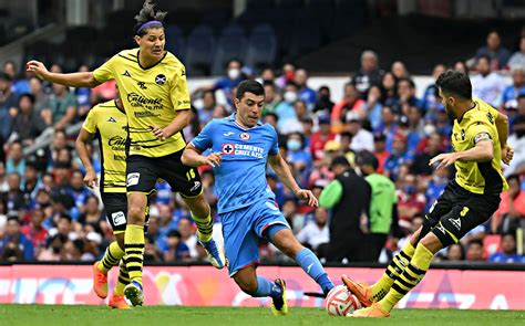
[[[76,138],[76,151],[85,167],[84,182],[90,188],[97,186],[97,176],[91,164],[87,145],[99,137],[102,155],[101,197],[107,220],[116,241],[112,242],[100,262],[93,266],[93,290],[101,298],[107,296],[107,272],[124,256],[124,232],[126,230],[126,151],[127,117],[122,101],[114,99],[94,106],[85,118]],[[121,264],[119,280],[109,305],[128,308],[124,299],[124,287],[130,284],[125,264]]]

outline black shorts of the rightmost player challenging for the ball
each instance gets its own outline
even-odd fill
[[[452,180],[425,215],[423,236],[431,231],[443,248],[457,243],[469,231],[486,222],[500,201],[500,194],[473,193]]]

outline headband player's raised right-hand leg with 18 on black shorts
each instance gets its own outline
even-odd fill
[[[169,156],[169,165],[164,166],[163,178],[178,191],[189,208],[192,218],[197,225],[197,238],[206,250],[208,260],[216,269],[226,265],[226,259],[222,248],[218,248],[212,238],[214,221],[212,220],[209,204],[203,193],[203,183],[196,168],[185,166],[181,161],[182,153]]]

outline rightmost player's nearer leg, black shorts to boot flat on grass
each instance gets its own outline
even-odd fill
[[[497,196],[457,198],[452,210],[418,242],[410,263],[397,277],[388,294],[377,304],[354,312],[353,315],[358,317],[388,316],[394,305],[421,282],[434,254],[443,248],[457,243],[469,231],[487,221],[498,204],[500,197]]]

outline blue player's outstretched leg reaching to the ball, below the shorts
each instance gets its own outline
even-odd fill
[[[295,260],[299,266],[321,287],[325,294],[333,288],[333,283],[316,254],[302,246],[294,233],[284,224],[272,224],[266,229],[266,235],[282,253]]]

